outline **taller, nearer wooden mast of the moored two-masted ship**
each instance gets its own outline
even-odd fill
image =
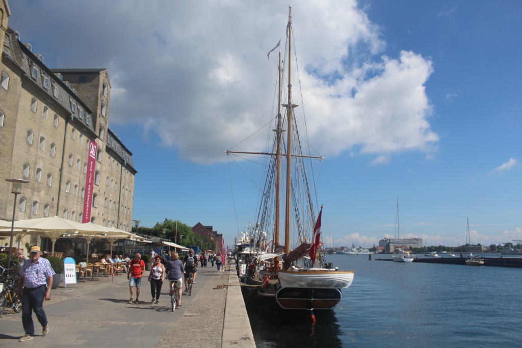
[[[290,253],[290,205],[292,184],[292,123],[293,123],[293,105],[292,105],[292,5],[289,6],[288,15],[288,104],[287,106],[287,188],[286,188],[286,206],[284,208],[284,251]]]

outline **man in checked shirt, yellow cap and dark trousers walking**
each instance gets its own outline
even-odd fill
[[[42,325],[42,334],[45,336],[49,333],[49,321],[43,310],[43,300],[51,299],[54,270],[49,260],[41,258],[40,254],[40,247],[33,246],[31,258],[23,262],[19,272],[18,293],[22,294],[22,324],[26,332],[20,342],[32,340],[34,336],[33,310]]]

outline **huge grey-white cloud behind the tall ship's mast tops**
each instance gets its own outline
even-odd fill
[[[410,51],[381,56],[382,29],[357,6],[307,1],[292,8],[299,58],[293,69],[304,93],[302,102],[292,81],[294,101],[305,111],[312,145],[330,157],[376,155],[374,163],[403,151],[436,151],[425,92],[432,61]],[[277,50],[270,61],[266,54],[279,39],[284,50],[288,7],[279,2],[20,1],[11,7],[10,26],[37,53],[51,55],[50,67],[109,68],[111,128],[141,127],[144,139],[158,138],[183,159],[225,161],[223,150],[275,115]],[[96,26],[78,21],[78,13],[97,18]],[[64,44],[84,42],[88,49]],[[251,140],[242,150],[263,148],[262,136]]]

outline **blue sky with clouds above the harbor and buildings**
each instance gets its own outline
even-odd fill
[[[274,117],[267,53],[288,2],[9,6],[48,67],[109,69],[109,127],[138,171],[133,219],[201,222],[231,245],[257,188],[234,186],[224,151],[263,150],[248,137]],[[325,245],[393,237],[397,199],[403,238],[465,244],[469,218],[473,244],[522,239],[522,2],[300,0],[292,20]]]

